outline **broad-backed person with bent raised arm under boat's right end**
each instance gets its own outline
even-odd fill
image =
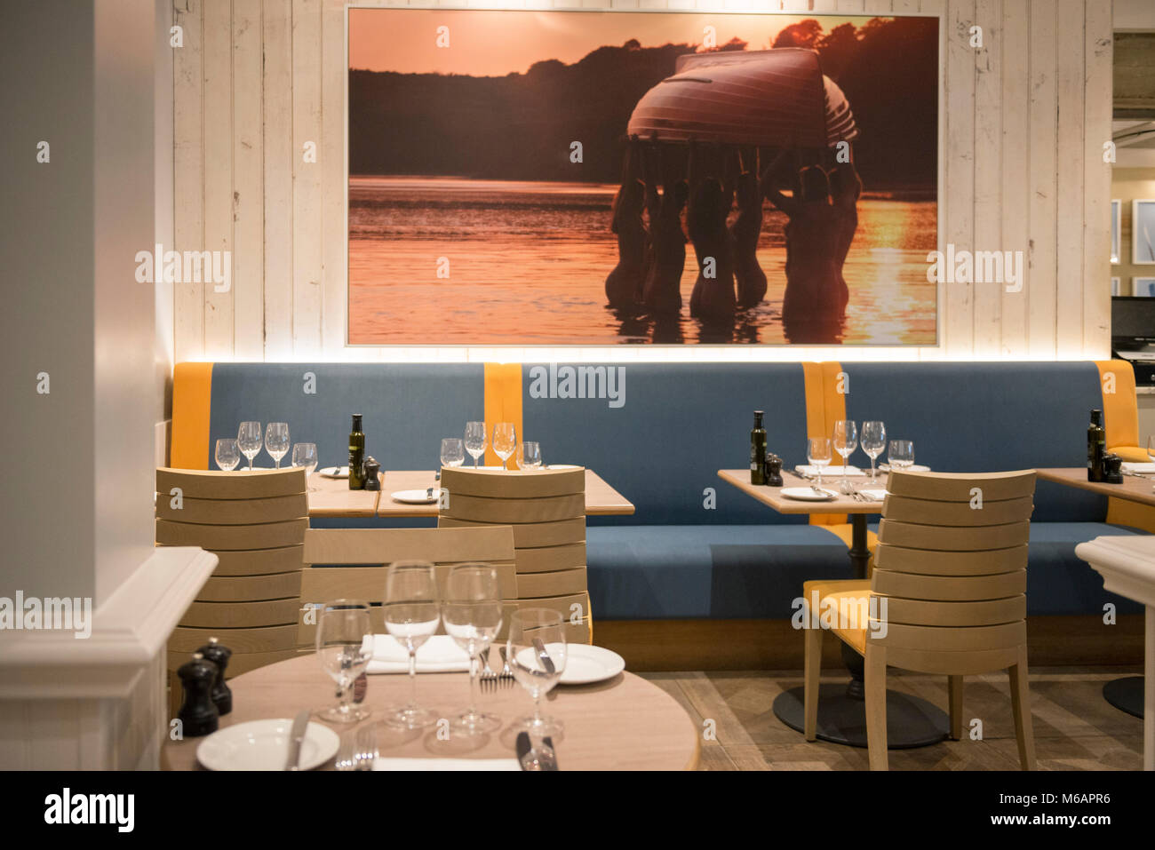
[[[780,163],[780,156],[775,165]],[[829,327],[841,321],[849,300],[845,281],[839,274],[839,212],[830,203],[826,172],[804,167],[800,192],[787,197],[776,186],[775,165],[762,174],[762,192],[787,214],[787,291],[782,299],[783,325],[813,323]]]

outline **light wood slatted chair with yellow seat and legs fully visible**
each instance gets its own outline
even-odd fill
[[[963,676],[1007,670],[1019,761],[1035,768],[1027,689],[1027,539],[1035,474],[891,472],[869,581],[804,584],[807,606],[864,656],[872,770],[887,768],[886,668],[946,673],[951,738],[962,736]],[[807,618],[808,619],[808,618]],[[805,735],[814,740],[825,628],[806,629]]]

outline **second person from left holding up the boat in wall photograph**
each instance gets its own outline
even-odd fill
[[[661,151],[655,151],[661,157]],[[653,166],[653,157],[647,166]],[[647,167],[646,210],[650,224],[650,255],[646,268],[642,303],[655,315],[671,315],[681,311],[681,273],[686,267],[686,234],[681,231],[681,210],[690,196],[685,180],[676,179],[670,170],[657,193],[657,173]]]

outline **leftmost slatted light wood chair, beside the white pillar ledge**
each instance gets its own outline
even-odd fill
[[[296,656],[307,527],[304,469],[156,470],[157,545],[200,546],[219,561],[169,639],[173,714],[172,673],[209,638],[232,650],[226,678]]]

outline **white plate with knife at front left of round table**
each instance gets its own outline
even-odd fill
[[[196,760],[209,770],[284,770],[292,721],[249,721],[214,732],[196,747]],[[320,723],[310,723],[300,743],[300,768],[312,770],[337,754],[341,739]]]

